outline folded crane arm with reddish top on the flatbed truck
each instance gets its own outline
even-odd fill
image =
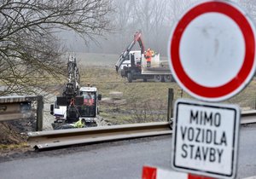
[[[132,42],[130,43],[130,45],[125,49],[125,51],[119,56],[119,61],[117,61],[117,63],[115,64],[115,69],[116,72],[119,71],[119,67],[122,65],[122,63],[125,61],[125,58],[127,57],[127,55],[129,55],[129,52],[131,51],[131,49],[133,48],[133,46],[135,45],[135,43],[139,43],[139,46],[141,48],[141,52],[142,54],[144,53],[144,45],[143,45],[143,40],[141,38],[142,36],[142,32],[136,32],[134,35],[134,38],[132,40]]]

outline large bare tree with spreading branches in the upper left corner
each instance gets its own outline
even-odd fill
[[[31,94],[53,83],[67,68],[55,32],[93,39],[110,30],[111,11],[110,0],[2,0],[0,95]]]

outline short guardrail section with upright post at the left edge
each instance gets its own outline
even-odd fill
[[[37,131],[43,129],[43,96],[2,96],[0,97],[0,122],[22,118],[33,118],[31,103],[37,101]]]

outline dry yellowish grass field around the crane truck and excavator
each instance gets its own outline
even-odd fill
[[[79,59],[80,58],[80,59]],[[115,72],[114,64],[119,55],[80,54],[81,85],[96,86],[102,97],[109,97],[109,92],[123,92],[127,100],[124,106],[101,104],[101,116],[112,124],[142,123],[151,121],[166,121],[168,89],[174,90],[174,100],[177,98],[192,98],[176,83],[143,83],[137,80],[131,84]],[[239,95],[224,103],[238,104],[242,110],[255,108],[256,80],[253,79]]]

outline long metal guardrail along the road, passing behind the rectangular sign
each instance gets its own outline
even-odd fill
[[[241,113],[241,124],[256,123],[256,111]],[[124,124],[72,130],[50,130],[28,133],[29,144],[38,149],[67,147],[103,141],[119,141],[139,137],[171,135],[169,122]]]

